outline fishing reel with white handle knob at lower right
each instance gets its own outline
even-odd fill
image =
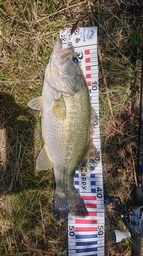
[[[127,209],[126,205],[121,202],[118,197],[104,196],[106,204],[111,202],[120,202],[122,211],[121,218],[129,231],[121,232],[119,230],[112,231],[112,239],[115,242],[120,242],[122,239],[130,237],[143,237],[143,205],[133,206]]]

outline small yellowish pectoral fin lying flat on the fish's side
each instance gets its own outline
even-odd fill
[[[66,119],[66,104],[62,93],[57,98],[53,99],[52,102],[52,115],[59,120]]]

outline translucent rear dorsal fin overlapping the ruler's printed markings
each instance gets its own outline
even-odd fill
[[[83,159],[78,164],[79,173],[92,173],[101,160],[100,152],[90,140]],[[92,168],[93,167],[93,168]],[[94,168],[95,167],[95,168]]]

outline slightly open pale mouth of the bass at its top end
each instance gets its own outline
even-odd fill
[[[73,52],[73,46],[68,47],[68,48],[62,48],[62,39],[58,39],[56,43],[56,48],[55,48],[55,57],[58,58],[59,60],[63,60],[65,58],[68,58],[68,55],[70,55],[71,52]]]

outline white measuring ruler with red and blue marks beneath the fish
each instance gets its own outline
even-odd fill
[[[97,27],[79,28],[76,34],[70,29],[60,32],[63,48],[74,46],[81,69],[89,86],[91,105],[99,116],[99,85],[97,58]],[[99,121],[92,136],[100,156]],[[92,161],[92,160],[91,160]],[[104,256],[104,196],[101,161],[97,167],[90,167],[91,174],[79,174],[78,167],[74,176],[74,185],[85,202],[89,216],[87,218],[68,217],[68,255]]]

